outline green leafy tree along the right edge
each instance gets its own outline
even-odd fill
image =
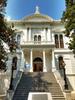
[[[65,0],[65,4],[62,20],[65,22],[65,35],[70,38],[69,49],[75,54],[75,0]]]

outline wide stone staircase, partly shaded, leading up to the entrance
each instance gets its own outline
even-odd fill
[[[29,92],[50,92],[53,100],[65,100],[52,71],[23,73],[13,100],[27,100]]]

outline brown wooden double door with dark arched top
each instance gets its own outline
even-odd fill
[[[41,58],[37,57],[33,61],[33,72],[43,71],[43,61]]]

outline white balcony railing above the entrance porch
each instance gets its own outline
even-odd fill
[[[55,43],[53,41],[23,41],[21,43],[21,47],[55,47]]]

